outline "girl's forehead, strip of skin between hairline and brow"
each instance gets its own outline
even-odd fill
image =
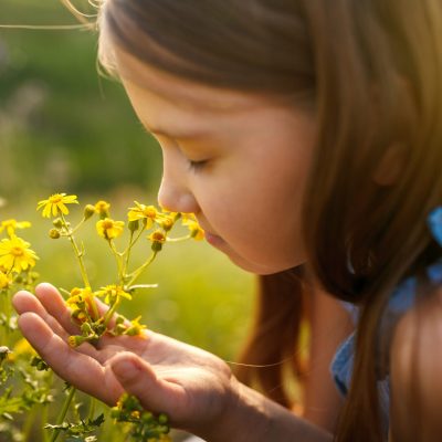
[[[269,97],[257,93],[211,87],[180,78],[123,51],[116,51],[115,61],[120,78],[124,83],[130,84],[134,91],[156,95],[175,106],[193,110],[234,113],[270,105]]]

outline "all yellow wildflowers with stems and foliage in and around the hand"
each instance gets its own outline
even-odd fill
[[[116,313],[117,307],[123,301],[133,299],[138,291],[156,286],[143,284],[139,280],[167,243],[201,240],[203,231],[192,214],[168,212],[138,201],[128,208],[125,220],[113,215],[107,201],[87,203],[80,221],[74,223],[69,219],[73,206],[80,206],[78,199],[67,193],[54,193],[36,204],[43,218],[52,222],[49,236],[53,240],[66,239],[71,243],[82,275],[82,282],[76,287],[62,290],[71,319],[78,329],[76,335],[67,338],[69,345],[96,345],[105,334],[146,339],[148,334],[140,323],[141,317],[129,320]],[[83,241],[76,240],[81,229],[93,223],[94,219],[93,232],[103,239],[116,264],[116,274],[101,287],[93,287],[84,260],[85,246]],[[95,433],[105,431],[101,427],[106,413],[96,412],[93,398],[87,417],[85,412],[80,413],[82,406],[76,401],[72,386],[64,388],[64,404],[56,423],[46,422],[48,407],[60,398],[61,389],[54,388],[54,382],[60,382],[60,379],[53,377],[50,367],[20,335],[18,318],[11,308],[12,293],[21,288],[32,291],[39,277],[34,271],[39,256],[31,244],[21,238],[22,231],[30,227],[28,221],[0,220],[0,440],[30,440],[29,434],[18,430],[14,415],[42,407],[44,412],[39,409],[32,414],[32,428],[39,415],[43,423],[41,428],[52,432],[51,442],[56,442],[59,436],[65,441],[97,441]],[[175,228],[183,233],[172,236],[172,232],[177,231]],[[145,261],[133,263],[131,252],[143,246],[146,249],[143,253]],[[110,414],[115,421],[123,423],[119,430],[115,428],[113,431],[122,432],[124,440],[130,435],[130,440],[139,442],[170,441],[167,417],[144,410],[131,396],[122,397]],[[70,415],[75,418],[74,421]],[[31,427],[25,431],[31,431]],[[45,434],[43,436],[49,440]]]

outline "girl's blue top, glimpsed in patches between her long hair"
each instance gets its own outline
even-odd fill
[[[436,208],[430,213],[428,223],[432,236],[439,245],[442,246],[442,207]],[[427,267],[427,276],[431,283],[442,284],[442,259]],[[396,287],[380,322],[380,332],[382,332],[382,334],[387,332],[391,338],[392,330],[400,317],[414,305],[417,285],[417,278],[409,277]],[[357,324],[359,316],[358,307],[349,303],[344,303],[344,306],[350,312],[355,324]],[[347,396],[350,387],[354,360],[355,333],[340,344],[330,366],[335,385],[344,397]],[[378,377],[377,387],[380,401],[381,423],[387,433],[390,409],[390,381],[388,373]]]

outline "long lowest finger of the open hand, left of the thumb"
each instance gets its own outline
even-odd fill
[[[108,404],[116,403],[123,393],[123,388],[109,367],[104,367],[96,359],[70,348],[34,313],[22,314],[19,327],[39,355],[61,378]]]

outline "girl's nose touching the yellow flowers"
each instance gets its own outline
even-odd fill
[[[158,202],[171,212],[197,213],[199,210],[193,194],[165,176],[158,190]]]

